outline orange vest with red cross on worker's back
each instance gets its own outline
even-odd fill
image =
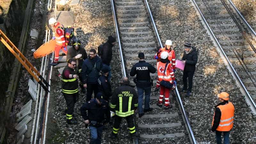
[[[157,62],[156,63],[156,67],[157,67],[157,76],[158,76],[158,81],[168,81],[170,83],[172,83],[172,76],[174,77],[174,73],[168,70],[169,65],[171,65],[171,63],[168,63],[166,70],[165,70],[165,74],[164,74],[164,68],[165,68],[165,64],[163,62]]]

